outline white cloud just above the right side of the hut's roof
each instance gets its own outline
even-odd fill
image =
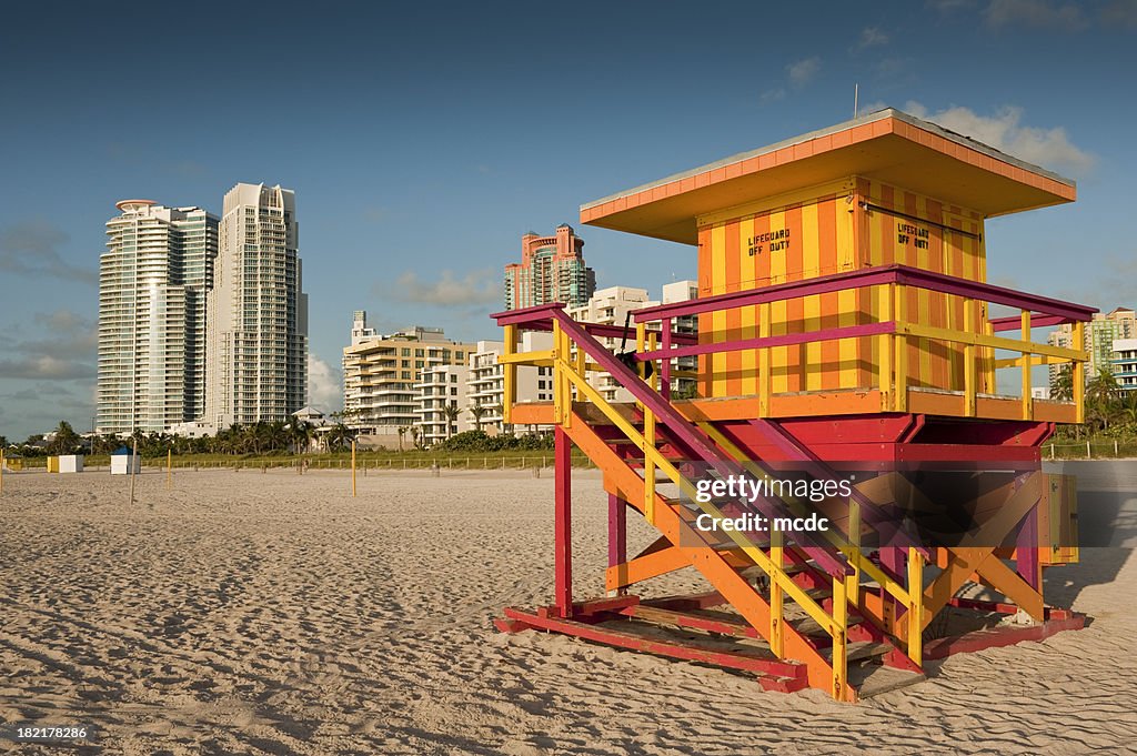
[[[1039,128],[1024,126],[1022,108],[1005,106],[994,116],[981,116],[969,108],[952,107],[938,113],[929,113],[919,102],[910,101],[904,109],[916,116],[939,124],[964,136],[974,139],[1006,152],[1020,160],[1055,169],[1085,174],[1095,163],[1095,157],[1070,142],[1061,126]]]

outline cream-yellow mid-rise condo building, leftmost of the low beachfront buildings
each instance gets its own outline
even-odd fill
[[[366,329],[365,314],[362,326]],[[345,423],[365,435],[390,435],[399,427],[417,426],[422,404],[416,387],[423,371],[465,365],[472,351],[474,344],[457,343],[442,329],[423,326],[345,347]]]

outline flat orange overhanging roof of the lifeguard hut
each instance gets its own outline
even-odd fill
[[[1070,178],[888,108],[589,202],[580,219],[695,244],[702,215],[854,175],[988,217],[1077,197]]]

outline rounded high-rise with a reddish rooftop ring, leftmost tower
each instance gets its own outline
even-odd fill
[[[217,217],[123,200],[99,258],[100,433],[161,432],[205,407],[206,297]]]

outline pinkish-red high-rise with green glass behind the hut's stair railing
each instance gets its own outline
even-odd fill
[[[505,266],[505,308],[524,309],[550,302],[581,307],[596,291],[596,273],[584,265],[584,240],[572,226],[553,236],[530,231],[521,238],[521,263]]]

